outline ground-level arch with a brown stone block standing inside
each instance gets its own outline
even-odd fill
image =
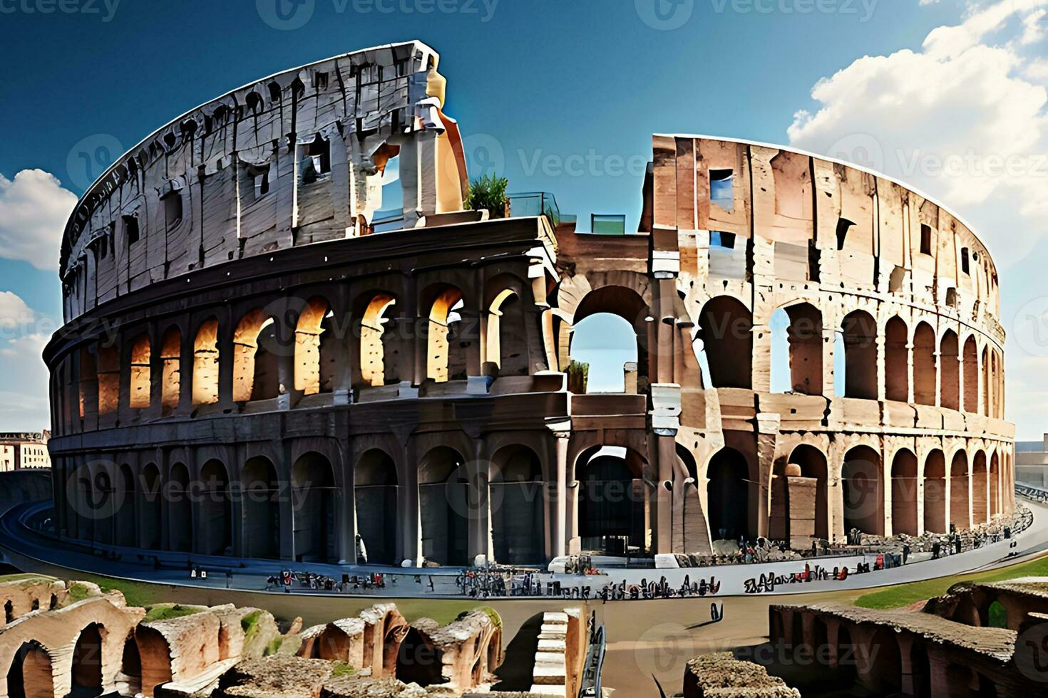
[[[806,539],[829,537],[826,478],[826,456],[808,444],[794,448],[785,463],[777,463],[768,521],[771,538],[807,547],[810,540]]]

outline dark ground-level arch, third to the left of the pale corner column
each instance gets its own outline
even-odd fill
[[[396,564],[397,491],[393,458],[378,449],[361,456],[353,472],[356,535],[369,564]]]

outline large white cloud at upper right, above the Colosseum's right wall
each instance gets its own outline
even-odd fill
[[[1048,73],[1040,41],[1048,0],[980,5],[929,33],[922,50],[864,57],[812,88],[791,143],[859,159],[965,216],[999,266],[1048,230]],[[990,40],[997,40],[990,43]],[[1023,235],[1016,235],[1023,229]]]

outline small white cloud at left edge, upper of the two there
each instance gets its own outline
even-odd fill
[[[0,175],[0,257],[58,269],[62,230],[77,195],[43,170]]]

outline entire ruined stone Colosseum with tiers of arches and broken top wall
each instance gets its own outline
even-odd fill
[[[45,350],[60,536],[456,566],[1012,511],[998,275],[958,217],[684,135],[653,137],[635,233],[472,210],[445,89],[417,41],[288,70],[83,196]],[[597,314],[635,340],[618,392],[572,361]]]

